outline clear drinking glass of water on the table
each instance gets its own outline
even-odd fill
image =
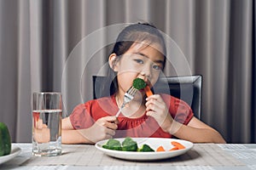
[[[61,93],[33,93],[32,154],[61,155]]]

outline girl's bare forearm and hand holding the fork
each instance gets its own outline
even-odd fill
[[[112,138],[117,127],[117,118],[115,116],[106,116],[98,119],[89,128],[75,130],[69,117],[66,117],[62,119],[62,143],[95,144],[102,139]]]

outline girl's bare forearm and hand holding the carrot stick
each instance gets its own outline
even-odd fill
[[[188,125],[173,120],[164,100],[159,94],[148,97],[146,102],[148,116],[154,117],[160,127],[179,139],[195,143],[225,143],[223,137],[212,127],[193,117]]]

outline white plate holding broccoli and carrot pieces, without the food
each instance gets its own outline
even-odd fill
[[[113,157],[117,157],[125,160],[138,160],[138,161],[160,160],[160,159],[166,159],[174,156],[180,156],[186,153],[188,150],[190,150],[193,147],[193,143],[186,140],[181,140],[181,139],[164,139],[164,138],[132,138],[132,139],[134,139],[137,142],[138,147],[141,147],[141,145],[143,144],[148,144],[153,150],[156,150],[160,145],[162,145],[164,149],[168,151],[137,152],[137,151],[108,150],[108,149],[102,148],[102,145],[106,144],[108,139],[97,142],[95,146],[98,150],[102,150],[108,156],[113,156]],[[124,138],[117,139],[117,140],[122,142]],[[185,149],[169,151],[173,147],[171,144],[172,141],[177,141],[180,144],[183,144],[185,146]]]

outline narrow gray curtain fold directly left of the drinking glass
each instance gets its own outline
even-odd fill
[[[26,141],[31,139],[32,122],[28,122],[31,118],[31,75],[30,75],[30,16],[29,5],[26,3],[18,3],[18,41],[17,41],[17,91],[16,94],[16,139]],[[10,106],[10,105],[9,105]],[[26,133],[25,133],[26,132]]]

